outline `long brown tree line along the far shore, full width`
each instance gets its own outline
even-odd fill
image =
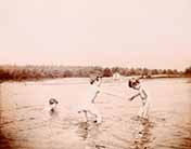
[[[91,73],[101,74],[103,77],[112,77],[115,72],[120,76],[142,76],[152,77],[157,74],[178,74],[191,76],[191,67],[186,68],[184,71],[176,69],[148,69],[148,68],[124,68],[124,67],[81,67],[81,66],[16,66],[2,65],[0,66],[0,80],[38,80],[46,78],[86,78]]]

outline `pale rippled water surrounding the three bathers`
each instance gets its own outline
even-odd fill
[[[191,83],[188,79],[144,80],[150,93],[149,121],[136,117],[140,100],[124,80],[106,79],[96,105],[103,117],[97,124],[77,113],[86,101],[87,79],[0,84],[1,149],[190,149]],[[56,114],[42,112],[48,99],[60,104]],[[124,99],[122,98],[124,97]]]

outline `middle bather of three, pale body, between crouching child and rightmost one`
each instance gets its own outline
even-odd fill
[[[85,117],[86,117],[86,122],[88,121],[88,117],[87,114],[90,113],[92,116],[96,116],[97,123],[101,123],[102,118],[94,105],[94,100],[98,96],[98,94],[100,93],[100,85],[102,82],[102,78],[101,77],[91,77],[90,78],[90,86],[89,86],[89,92],[88,92],[88,101],[86,104],[84,104],[82,108],[78,111],[84,112]]]

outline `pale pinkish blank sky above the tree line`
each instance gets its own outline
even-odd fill
[[[0,0],[0,64],[191,66],[190,0]]]

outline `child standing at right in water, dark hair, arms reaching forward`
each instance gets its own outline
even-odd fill
[[[143,119],[148,119],[149,97],[148,97],[148,94],[145,93],[145,90],[142,89],[138,79],[130,79],[128,82],[128,85],[129,85],[129,87],[138,91],[138,93],[136,95],[133,95],[132,97],[130,97],[129,100],[132,100],[137,97],[140,97],[141,101],[142,101],[142,105],[139,109],[138,117],[143,118]]]

